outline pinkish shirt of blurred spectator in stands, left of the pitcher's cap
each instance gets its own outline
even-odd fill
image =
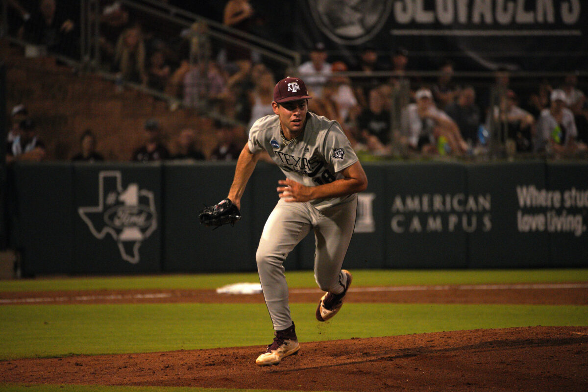
[[[183,102],[192,108],[211,108],[225,92],[225,78],[215,62],[189,66],[183,76]]]

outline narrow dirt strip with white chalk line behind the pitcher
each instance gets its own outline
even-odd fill
[[[290,289],[290,302],[315,302],[322,294],[319,289]],[[352,287],[349,289],[346,301],[586,305],[588,304],[588,283]],[[262,294],[217,294],[215,290],[0,292],[0,305],[179,302],[263,303],[263,296]]]

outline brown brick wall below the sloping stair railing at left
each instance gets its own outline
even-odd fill
[[[24,103],[36,120],[47,147],[47,159],[70,159],[79,152],[79,139],[92,129],[97,150],[108,160],[129,160],[144,142],[143,124],[156,118],[165,143],[175,151],[183,128],[192,128],[205,155],[216,145],[213,120],[191,109],[171,111],[166,102],[133,90],[116,92],[113,82],[56,64],[51,58],[25,58],[22,48],[0,40],[6,63],[7,108]]]

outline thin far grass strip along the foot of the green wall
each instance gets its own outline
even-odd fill
[[[316,287],[310,271],[287,272],[288,286]],[[46,290],[215,289],[225,284],[259,282],[257,273],[76,277],[8,280],[0,292]],[[353,286],[588,282],[588,269],[540,270],[354,270]]]

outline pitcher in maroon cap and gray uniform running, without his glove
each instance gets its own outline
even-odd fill
[[[279,181],[280,200],[265,223],[256,253],[259,280],[275,329],[273,343],[256,360],[259,366],[278,364],[300,349],[290,317],[283,262],[310,229],[315,232],[315,280],[326,292],[316,319],[335,316],[352,280],[341,266],[355,225],[357,194],[366,189],[368,179],[339,123],[308,112],[309,98],[298,78],[288,77],[276,84],[275,115],[260,118],[251,127],[228,195],[240,209],[246,183],[263,151],[286,176]]]

